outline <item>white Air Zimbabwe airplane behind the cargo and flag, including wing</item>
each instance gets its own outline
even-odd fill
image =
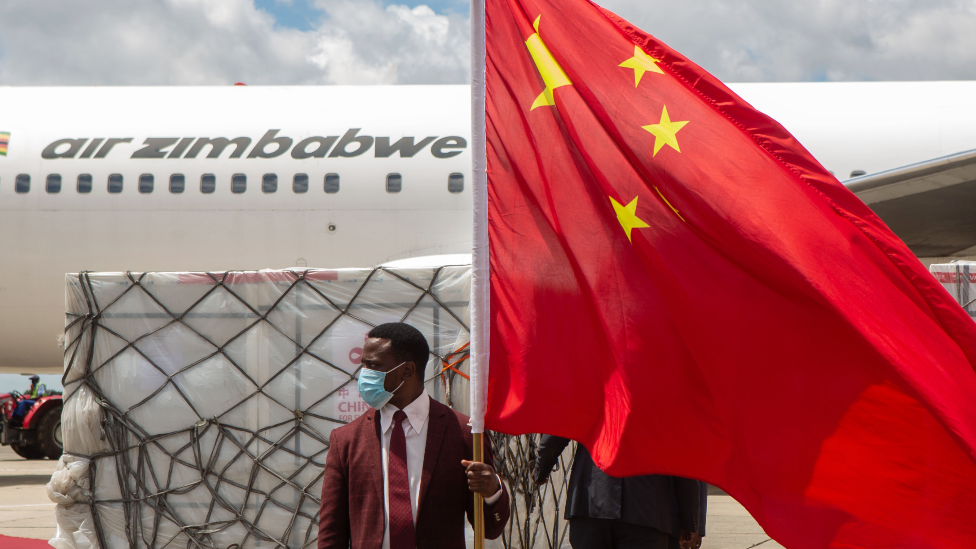
[[[923,261],[976,256],[976,82],[730,87]],[[469,94],[0,87],[0,373],[61,372],[65,273],[470,253]]]

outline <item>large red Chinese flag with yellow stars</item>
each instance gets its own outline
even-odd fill
[[[487,427],[706,480],[790,548],[976,547],[976,323],[884,223],[585,0],[488,0],[485,36]]]

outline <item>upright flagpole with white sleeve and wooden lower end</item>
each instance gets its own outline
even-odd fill
[[[484,460],[488,398],[488,172],[485,138],[485,0],[471,0],[471,172],[474,225],[471,249],[471,381],[469,384],[472,459]],[[474,495],[474,549],[484,549],[484,500]]]

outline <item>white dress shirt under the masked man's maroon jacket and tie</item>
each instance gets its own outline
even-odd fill
[[[393,414],[398,408],[387,403],[380,408],[380,430],[383,433],[383,549],[390,549],[390,437],[393,434]],[[407,414],[403,422],[403,435],[407,441],[407,476],[410,479],[410,508],[413,523],[417,524],[417,509],[420,507],[420,479],[424,470],[424,452],[427,450],[427,418],[430,416],[430,397],[424,390],[413,402],[403,409]],[[458,467],[461,464],[458,463]],[[501,479],[498,481],[501,486]],[[498,490],[493,496],[485,498],[492,505],[502,497]]]

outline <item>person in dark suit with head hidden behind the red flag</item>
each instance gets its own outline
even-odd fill
[[[542,435],[533,480],[545,484],[569,439]],[[615,478],[583,445],[569,478],[565,518],[574,549],[697,549],[705,535],[705,484],[665,475]]]

